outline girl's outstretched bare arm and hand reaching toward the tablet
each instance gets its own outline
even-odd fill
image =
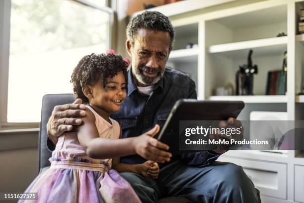
[[[170,161],[171,153],[164,151],[169,147],[152,138],[159,130],[158,125],[137,137],[108,139],[99,137],[92,111],[85,108],[85,113],[86,116],[81,118],[82,124],[76,129],[76,132],[79,143],[89,157],[109,159],[138,154],[156,162]]]

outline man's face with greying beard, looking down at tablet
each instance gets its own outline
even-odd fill
[[[163,76],[169,56],[170,35],[168,32],[139,29],[134,43],[127,41],[132,58],[132,74],[137,86],[157,83]]]

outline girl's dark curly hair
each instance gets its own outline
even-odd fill
[[[82,93],[82,87],[94,85],[98,80],[101,80],[105,87],[107,78],[113,78],[121,71],[127,83],[127,68],[128,63],[118,55],[91,54],[84,56],[78,62],[71,77],[74,94],[84,103],[88,103],[88,99]]]

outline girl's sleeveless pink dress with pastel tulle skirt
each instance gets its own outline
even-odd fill
[[[120,127],[98,115],[96,118],[100,137],[118,139]],[[82,149],[76,133],[59,137],[50,158],[51,167],[40,174],[27,188],[26,193],[38,193],[39,203],[140,203],[131,185],[115,170],[110,170],[112,159],[92,159]],[[27,201],[19,201],[27,202]]]

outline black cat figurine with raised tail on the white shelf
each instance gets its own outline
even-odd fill
[[[252,66],[251,55],[253,51],[250,49],[247,65],[239,66],[236,72],[236,95],[253,95],[253,74],[258,73],[256,64]]]

